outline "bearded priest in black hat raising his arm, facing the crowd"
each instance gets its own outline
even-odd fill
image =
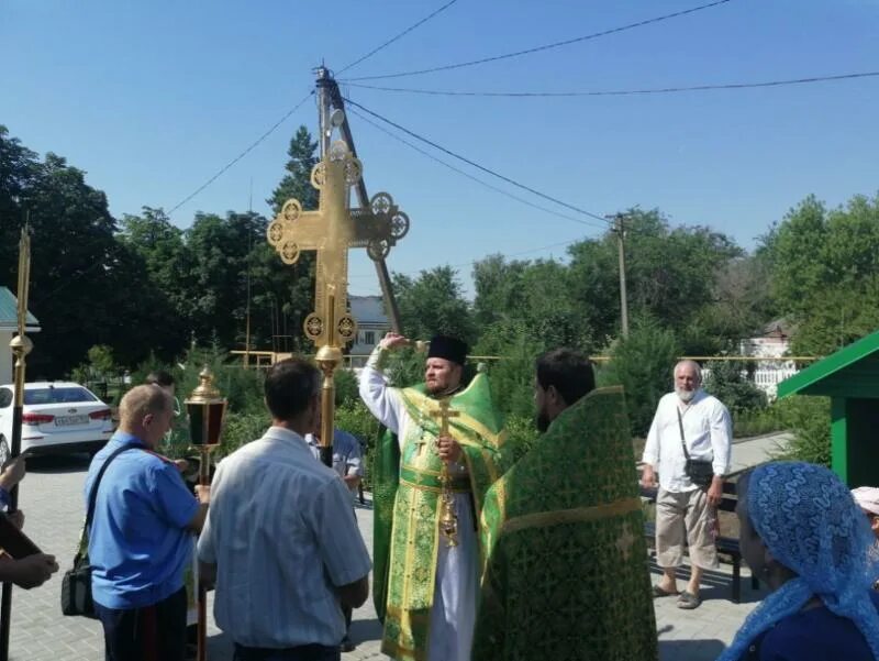
[[[390,387],[386,359],[409,344],[388,333],[360,374],[360,396],[389,432],[377,445],[372,475],[381,651],[398,661],[469,661],[479,587],[477,522],[486,491],[507,467],[503,425],[485,374],[465,387],[467,345],[456,338],[431,340],[424,384]],[[441,404],[448,406],[445,416]],[[452,526],[443,516],[449,511]]]

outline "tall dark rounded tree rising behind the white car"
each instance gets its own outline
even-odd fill
[[[132,291],[146,283],[127,268],[107,197],[85,173],[52,153],[34,170],[20,197],[33,231],[30,308],[42,323],[29,364],[34,376],[59,377],[93,344],[116,350],[130,342],[121,329],[143,315],[120,283]]]

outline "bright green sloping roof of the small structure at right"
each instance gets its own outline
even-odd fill
[[[786,378],[778,396],[879,398],[879,331]]]

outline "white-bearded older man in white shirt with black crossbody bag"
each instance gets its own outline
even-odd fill
[[[642,484],[656,496],[656,562],[663,577],[654,596],[678,595],[679,608],[697,608],[702,571],[717,568],[716,507],[723,498],[723,476],[730,471],[733,425],[730,411],[702,389],[702,371],[693,361],[675,365],[675,392],[656,407],[644,447]],[[685,452],[686,447],[686,452]],[[687,475],[687,455],[710,462],[710,484],[698,485]],[[678,593],[676,570],[689,546],[692,571],[687,590]]]

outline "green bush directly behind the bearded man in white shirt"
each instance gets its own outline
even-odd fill
[[[623,386],[634,434],[647,434],[656,404],[674,385],[672,370],[679,355],[675,333],[652,320],[637,321],[628,338],[611,348],[601,385]]]

